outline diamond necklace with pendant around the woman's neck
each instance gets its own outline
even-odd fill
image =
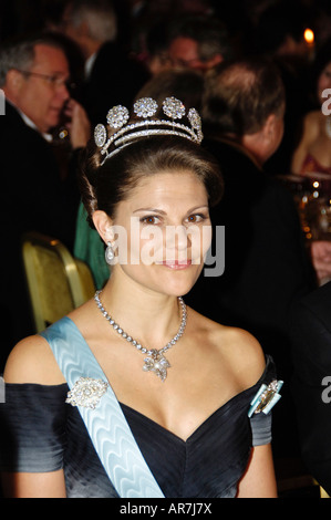
[[[163,382],[167,377],[167,368],[169,368],[172,365],[168,362],[168,360],[163,355],[165,352],[167,352],[172,346],[174,346],[179,337],[183,336],[185,326],[186,326],[186,319],[187,319],[187,311],[186,311],[186,305],[184,303],[183,298],[178,298],[178,302],[180,303],[182,306],[182,322],[180,326],[178,329],[177,334],[163,347],[159,350],[156,349],[146,349],[141,345],[141,343],[136,340],[134,340],[130,334],[124,332],[124,330],[115,323],[115,321],[110,316],[107,311],[104,309],[103,304],[100,301],[100,293],[102,291],[96,291],[94,295],[94,300],[96,301],[96,304],[102,312],[103,316],[107,320],[110,325],[116,331],[124,340],[126,340],[128,343],[131,343],[135,349],[141,351],[143,354],[148,354],[148,357],[145,357],[143,371],[145,372],[154,372],[155,375],[157,375]]]

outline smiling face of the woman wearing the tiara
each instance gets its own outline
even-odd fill
[[[144,178],[118,204],[113,232],[113,274],[145,289],[187,293],[197,280],[210,246],[208,196],[190,171],[159,173]]]

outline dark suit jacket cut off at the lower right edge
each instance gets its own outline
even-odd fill
[[[293,306],[291,337],[302,458],[331,495],[331,282]]]

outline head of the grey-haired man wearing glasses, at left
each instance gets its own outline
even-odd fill
[[[52,35],[17,40],[0,51],[0,86],[6,98],[40,132],[59,124],[70,97],[69,81],[66,55]]]

